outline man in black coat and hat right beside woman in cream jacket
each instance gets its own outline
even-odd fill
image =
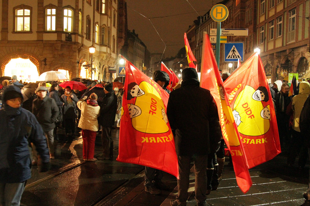
[[[103,102],[99,103],[100,116],[98,123],[101,125],[101,141],[103,145],[103,154],[97,159],[110,159],[113,157],[113,138],[112,126],[115,121],[115,114],[117,110],[117,97],[114,94],[113,83],[104,85],[105,97]]]

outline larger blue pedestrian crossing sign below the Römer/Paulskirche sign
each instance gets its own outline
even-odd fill
[[[243,42],[225,43],[225,61],[243,61]]]

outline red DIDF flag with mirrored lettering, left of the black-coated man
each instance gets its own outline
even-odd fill
[[[178,177],[175,143],[166,115],[168,98],[166,91],[126,60],[117,161]]]

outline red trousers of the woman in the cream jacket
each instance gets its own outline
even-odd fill
[[[96,132],[82,129],[83,159],[94,158]]]

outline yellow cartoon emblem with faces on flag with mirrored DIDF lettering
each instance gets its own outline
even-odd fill
[[[159,134],[169,131],[165,105],[158,91],[148,82],[128,84],[127,99],[135,99],[128,104],[129,116],[133,128],[139,132]]]

